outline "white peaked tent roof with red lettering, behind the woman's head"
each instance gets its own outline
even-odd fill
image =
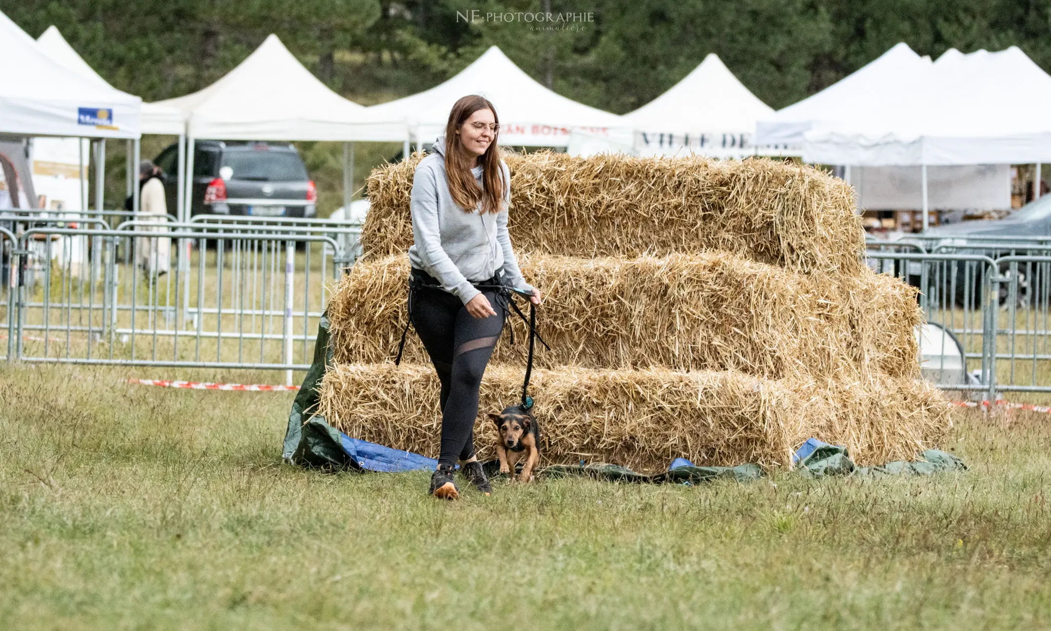
[[[445,131],[453,104],[468,94],[486,97],[496,106],[501,145],[564,147],[574,127],[602,134],[623,125],[616,114],[540,85],[496,46],[445,83],[369,109],[377,117],[408,121],[417,141],[430,142]]]

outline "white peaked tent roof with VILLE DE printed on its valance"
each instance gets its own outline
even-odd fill
[[[756,152],[756,121],[772,113],[717,55],[708,54],[682,81],[622,118],[635,128],[641,155],[739,157]]]

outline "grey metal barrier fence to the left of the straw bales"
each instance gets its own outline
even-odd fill
[[[326,226],[337,235],[356,228]],[[334,281],[331,234],[165,224],[0,229],[8,359],[306,370]],[[356,241],[356,238],[355,238]]]

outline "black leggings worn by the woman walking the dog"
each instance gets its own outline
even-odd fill
[[[486,285],[485,283],[479,285]],[[495,316],[475,318],[449,292],[424,288],[412,292],[412,325],[419,334],[441,381],[441,454],[439,464],[474,456],[478,388],[493,346],[503,329],[504,311],[494,291],[483,291]]]

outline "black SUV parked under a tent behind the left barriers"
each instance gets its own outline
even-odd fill
[[[176,208],[179,146],[153,163],[165,173],[169,209]],[[197,141],[190,214],[312,217],[317,188],[288,143]],[[178,213],[170,213],[178,214]]]

